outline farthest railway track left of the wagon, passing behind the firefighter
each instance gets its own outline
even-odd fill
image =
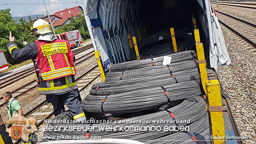
[[[92,44],[91,44],[91,45],[86,45],[86,46],[81,47],[81,48],[79,48],[79,49],[77,49],[77,50],[74,50],[73,53],[74,53],[74,55],[77,55],[77,54],[79,54],[79,53],[81,53],[81,52],[84,52],[84,51],[86,51],[86,50],[89,50],[90,48],[92,48]],[[90,52],[90,53],[91,53],[91,52]],[[83,56],[85,57],[85,56],[87,56],[87,54],[84,54]],[[79,57],[79,58],[76,59],[76,60],[81,61],[81,60],[83,60],[82,58],[83,58],[83,57]],[[81,62],[82,62],[82,61],[81,61]],[[17,73],[14,73],[14,74],[12,74],[12,75],[10,75],[10,76],[7,76],[7,77],[5,77],[5,78],[2,78],[2,79],[0,79],[0,89],[2,89],[2,88],[4,88],[4,87],[6,87],[6,86],[8,86],[8,85],[10,85],[10,84],[12,84],[12,83],[18,81],[18,80],[20,80],[20,79],[22,79],[22,78],[26,78],[27,76],[30,76],[30,75],[33,74],[33,73],[34,73],[34,67],[31,66],[31,67],[25,68],[25,69],[23,69],[23,70],[21,70],[21,71],[19,71],[19,72],[17,72]],[[0,98],[0,99],[1,99],[1,98]]]

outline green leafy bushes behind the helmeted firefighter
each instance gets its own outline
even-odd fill
[[[76,17],[71,17],[70,20],[70,24],[64,24],[63,26],[58,27],[55,30],[55,33],[59,34],[79,29],[84,40],[90,38],[83,12]],[[36,35],[30,34],[30,27],[33,25],[22,18],[19,19],[19,21],[20,23],[16,24],[16,21],[12,19],[10,9],[0,10],[0,50],[4,51],[10,65],[17,64],[18,62],[14,61],[7,48],[9,31],[12,31],[12,36],[15,37],[15,43],[19,48],[24,47],[22,38],[27,41],[27,43],[37,39]]]

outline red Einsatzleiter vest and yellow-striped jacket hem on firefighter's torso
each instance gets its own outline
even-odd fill
[[[32,59],[40,94],[64,94],[77,89],[74,55],[66,40],[35,40],[38,49]]]

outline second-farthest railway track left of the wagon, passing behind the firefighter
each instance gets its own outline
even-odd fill
[[[83,56],[77,58],[78,61],[75,62],[75,66],[92,58],[93,56],[94,56],[94,51],[84,54]],[[16,90],[13,90],[11,93],[13,94],[13,97],[16,99],[16,98],[26,94],[27,92],[31,92],[32,90],[35,90],[36,87],[37,87],[36,80],[32,80],[31,82],[27,83],[26,85],[23,85],[21,87],[18,87]],[[0,100],[2,101],[0,103],[0,107],[7,104],[7,102],[3,101],[2,99],[3,99],[3,97],[0,97]]]

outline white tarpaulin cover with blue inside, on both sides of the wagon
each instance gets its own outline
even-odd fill
[[[205,48],[212,68],[231,63],[218,19],[209,0],[197,0],[199,23],[205,34]],[[99,50],[104,69],[110,64],[130,60],[128,35],[139,38],[145,30],[140,13],[141,0],[85,0],[85,21],[93,46]],[[145,34],[141,33],[145,38]],[[138,41],[138,40],[137,40]],[[209,49],[209,50],[208,50]]]

